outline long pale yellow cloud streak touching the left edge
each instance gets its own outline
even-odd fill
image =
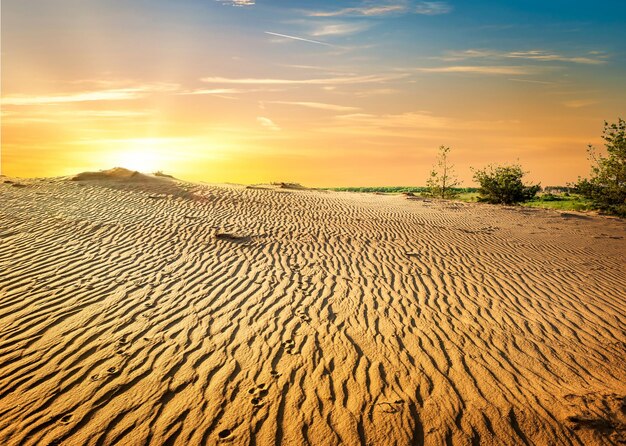
[[[178,86],[173,84],[151,84],[130,88],[82,91],[78,93],[49,96],[15,95],[3,97],[2,105],[46,105],[90,101],[124,101],[138,99],[151,92],[173,91],[177,88]]]

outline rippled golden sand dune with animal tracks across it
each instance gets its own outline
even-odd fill
[[[594,215],[2,177],[0,444],[623,443],[625,252]]]

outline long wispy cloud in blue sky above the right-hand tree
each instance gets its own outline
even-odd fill
[[[607,55],[592,51],[585,55],[568,56],[545,50],[531,51],[495,51],[483,49],[469,49],[465,51],[449,51],[445,56],[437,59],[445,61],[460,61],[467,59],[525,59],[540,62],[569,62],[587,65],[601,65],[607,62]]]

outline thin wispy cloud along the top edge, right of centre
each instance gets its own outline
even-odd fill
[[[422,14],[439,15],[452,11],[452,6],[447,2],[411,2],[396,1],[383,5],[363,5],[351,8],[336,9],[333,11],[309,11],[311,17],[340,17],[340,16],[365,16],[378,17],[394,14]]]

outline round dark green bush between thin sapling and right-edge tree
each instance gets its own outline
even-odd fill
[[[474,170],[474,180],[480,185],[480,201],[488,203],[515,204],[531,200],[541,189],[539,184],[525,185],[522,178],[526,172],[519,164],[510,166],[487,166]]]

